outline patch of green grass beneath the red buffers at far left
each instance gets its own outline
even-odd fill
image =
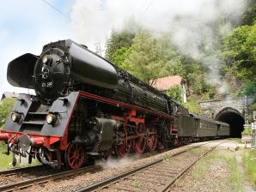
[[[0,141],[0,170],[6,170],[6,169],[14,168],[14,166],[11,165],[11,163],[12,163],[12,153],[10,153],[9,155],[3,154],[6,151],[7,151],[7,149],[6,149],[5,144]],[[38,160],[35,160],[35,159],[32,160],[32,164],[28,164],[27,159],[22,160],[21,163],[20,163],[20,158],[17,157],[17,156],[16,156],[16,160],[17,160],[17,165],[15,165],[16,168],[26,167],[26,166],[29,166],[29,165],[39,165],[40,164],[38,162]]]

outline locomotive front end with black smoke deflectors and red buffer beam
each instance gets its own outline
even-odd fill
[[[115,88],[118,75],[113,65],[88,51],[84,45],[68,39],[45,45],[39,57],[27,53],[15,58],[9,63],[7,78],[12,86],[31,88],[36,93],[36,96],[19,95],[0,133],[0,141],[7,143],[7,154],[13,152],[23,157],[28,154],[30,162],[37,157],[44,164],[58,167],[64,163],[72,169],[81,166],[84,153],[80,154],[83,158],[76,157],[81,159],[75,162],[76,165],[70,163],[70,158],[75,155],[72,150],[81,147],[79,143],[70,141],[70,124],[74,119],[73,124],[78,124],[78,117],[72,115],[80,94],[76,85],[82,83],[106,89]],[[85,126],[84,119],[79,119],[82,122],[81,129]],[[106,150],[111,147],[113,140],[112,131],[107,129],[113,129],[117,124],[113,120],[92,119],[86,125],[88,129],[83,141],[81,138],[76,140]],[[105,147],[101,147],[101,143]]]

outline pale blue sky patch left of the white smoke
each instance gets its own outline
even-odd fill
[[[73,1],[51,1],[61,15],[42,0],[8,0],[0,6],[0,94],[27,93],[12,87],[6,77],[8,63],[27,52],[40,55],[43,45],[58,39],[72,39],[70,10]]]

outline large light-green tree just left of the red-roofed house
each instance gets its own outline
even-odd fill
[[[146,30],[137,33],[131,45],[131,53],[125,59],[131,74],[149,85],[154,85],[156,78],[172,74],[171,65],[179,62],[167,36],[156,39]]]

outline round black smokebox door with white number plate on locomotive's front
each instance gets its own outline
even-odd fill
[[[60,44],[43,50],[34,67],[34,88],[40,99],[52,102],[70,85],[70,61],[65,47]]]

